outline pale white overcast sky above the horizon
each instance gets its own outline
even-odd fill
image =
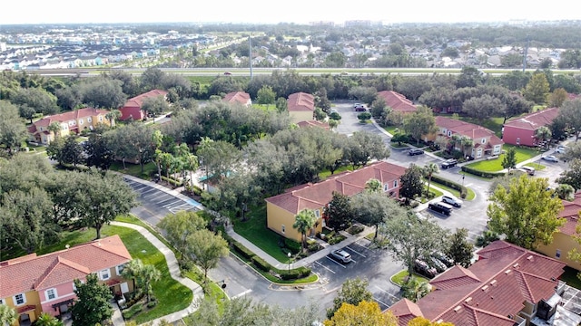
[[[389,23],[507,22],[509,20],[581,20],[578,10],[514,0],[28,0],[5,1],[1,24],[66,23]]]

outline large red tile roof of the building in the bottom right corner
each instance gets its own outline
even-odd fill
[[[468,270],[451,268],[430,282],[436,290],[417,302],[424,317],[455,325],[512,324],[507,316],[517,316],[524,302],[537,303],[555,293],[566,265],[500,240],[478,256]]]

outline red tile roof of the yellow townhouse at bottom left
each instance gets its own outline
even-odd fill
[[[0,263],[0,298],[72,282],[131,260],[119,235],[69,249]]]

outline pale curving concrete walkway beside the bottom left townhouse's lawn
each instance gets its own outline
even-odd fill
[[[192,312],[195,312],[197,309],[195,303],[197,302],[198,298],[203,297],[202,287],[200,286],[200,284],[193,282],[189,278],[184,278],[181,276],[180,266],[178,265],[178,261],[175,258],[175,254],[173,254],[172,250],[170,250],[170,248],[168,248],[166,245],[163,245],[163,243],[155,235],[153,235],[143,226],[115,221],[111,222],[111,225],[129,227],[142,234],[149,242],[152,243],[152,245],[154,245],[165,256],[165,261],[167,262],[167,266],[170,270],[170,274],[172,275],[172,279],[179,283],[182,283],[184,286],[188,287],[193,292],[193,300],[186,309],[183,309],[179,312],[170,313],[168,315],[165,315],[150,322],[152,322],[153,325],[159,325],[162,320],[169,322],[179,321],[183,317],[192,314]],[[118,326],[120,324],[115,323],[114,325]]]

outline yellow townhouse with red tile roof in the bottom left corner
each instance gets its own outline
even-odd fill
[[[15,309],[16,325],[30,324],[42,312],[62,316],[73,305],[74,280],[96,273],[102,283],[121,297],[133,291],[122,277],[132,259],[119,235],[67,247],[51,254],[28,254],[0,262],[0,304]]]

